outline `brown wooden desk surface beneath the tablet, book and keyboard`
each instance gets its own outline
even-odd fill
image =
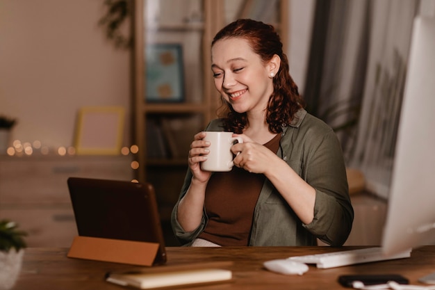
[[[233,261],[234,282],[213,284],[190,289],[344,289],[338,284],[339,275],[397,273],[412,284],[423,275],[435,272],[435,245],[414,250],[411,258],[380,261],[369,264],[318,269],[310,266],[302,276],[279,275],[263,269],[263,261],[293,255],[307,255],[355,247],[240,247],[240,248],[167,248],[167,265],[183,265],[204,261]],[[124,264],[69,259],[65,248],[28,248],[24,256],[22,273],[14,290],[33,289],[125,289],[104,281],[107,271],[123,271]],[[164,267],[164,266],[162,266]]]

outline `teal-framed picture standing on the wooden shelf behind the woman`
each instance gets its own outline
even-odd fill
[[[180,44],[153,44],[145,49],[145,100],[184,100],[183,49]]]

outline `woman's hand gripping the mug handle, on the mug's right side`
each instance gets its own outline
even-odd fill
[[[277,158],[277,155],[268,147],[254,142],[245,134],[234,134],[233,136],[243,138],[243,143],[237,143],[231,147],[233,154],[236,154],[235,166],[254,173],[265,173],[273,168],[273,160]]]

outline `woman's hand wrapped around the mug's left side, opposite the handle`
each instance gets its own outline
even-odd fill
[[[192,144],[190,144],[188,164],[193,175],[192,178],[197,179],[197,182],[207,182],[211,177],[210,171],[201,169],[201,162],[207,159],[207,154],[210,152],[208,150],[210,142],[203,140],[206,134],[206,131],[195,134]]]

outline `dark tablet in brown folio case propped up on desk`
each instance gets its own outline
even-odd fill
[[[165,242],[151,184],[79,177],[69,177],[67,184],[79,237],[156,243],[158,250],[153,264],[165,263]]]

